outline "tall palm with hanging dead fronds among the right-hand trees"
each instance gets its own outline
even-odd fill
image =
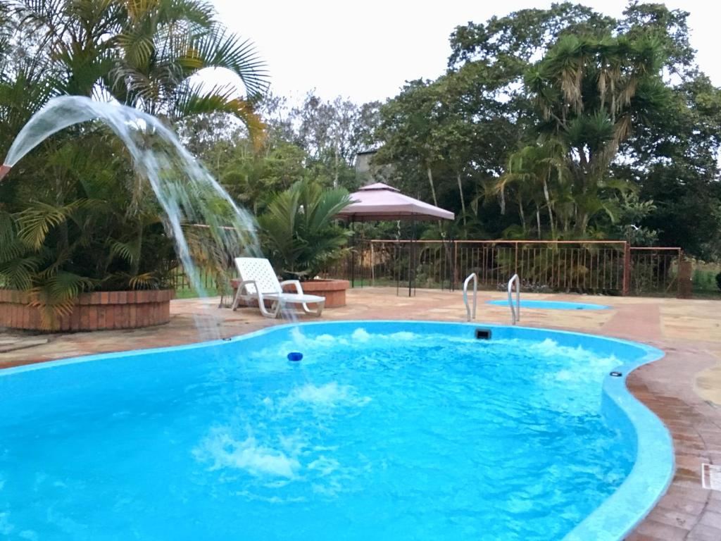
[[[565,35],[526,74],[541,113],[541,146],[565,146],[577,234],[593,214],[609,210],[608,178],[634,118],[663,102],[660,43],[653,37]]]

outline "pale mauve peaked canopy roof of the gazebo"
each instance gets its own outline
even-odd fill
[[[337,214],[350,221],[382,220],[452,220],[454,214],[443,208],[423,203],[396,188],[376,182],[350,194],[353,203]]]

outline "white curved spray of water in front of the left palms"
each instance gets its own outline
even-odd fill
[[[213,193],[229,204],[234,214],[230,220],[234,226],[231,229],[249,234],[252,246],[246,247],[246,249],[254,252],[255,255],[260,254],[253,222],[247,212],[239,208],[213,176],[198,164],[193,155],[180,144],[172,130],[158,118],[125,105],[96,102],[83,96],[61,96],[49,100],[42,110],[32,115],[13,141],[4,164],[0,167],[0,180],[22,157],[45,138],[64,128],[89,120],[102,120],[106,126],[112,129],[131,153],[136,167],[139,167],[148,178],[169,221],[177,247],[177,255],[196,291],[205,296],[203,284],[195,271],[195,265],[190,258],[185,235],[182,232],[181,217],[187,216],[187,213],[193,213],[193,203],[203,205],[203,190],[211,188]],[[148,128],[152,130],[154,136],[158,136],[164,143],[169,144],[172,154],[167,152],[163,154],[142,145],[142,138],[138,137],[138,134]],[[185,174],[185,182],[182,184],[174,182],[177,178],[168,180],[167,175],[164,175],[164,173],[175,171],[177,168],[180,168]],[[192,197],[192,195],[199,194],[201,197]],[[208,209],[208,215],[203,216],[203,219],[218,225],[218,219],[211,209]],[[218,334],[217,329],[214,330],[214,334]]]

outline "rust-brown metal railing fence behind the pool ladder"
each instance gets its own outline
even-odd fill
[[[327,269],[353,286],[458,289],[470,273],[479,287],[503,288],[518,274],[526,291],[676,295],[680,248],[624,241],[370,240]]]

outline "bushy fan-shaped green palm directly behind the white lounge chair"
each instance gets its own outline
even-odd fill
[[[284,279],[309,280],[345,255],[350,231],[336,216],[348,191],[299,180],[275,195],[258,219],[263,251]]]

